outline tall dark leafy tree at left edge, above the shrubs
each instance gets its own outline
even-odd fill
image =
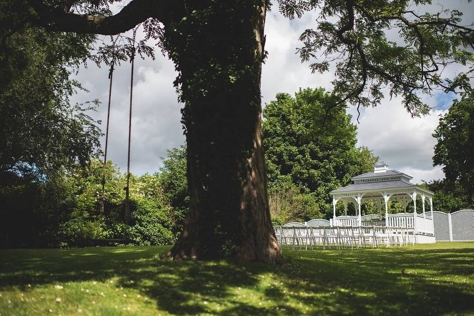
[[[4,10],[12,5],[0,1],[0,175],[50,177],[85,165],[99,148],[100,130],[87,114],[97,102],[69,100],[81,88],[70,75],[89,56],[95,36],[22,25]]]

